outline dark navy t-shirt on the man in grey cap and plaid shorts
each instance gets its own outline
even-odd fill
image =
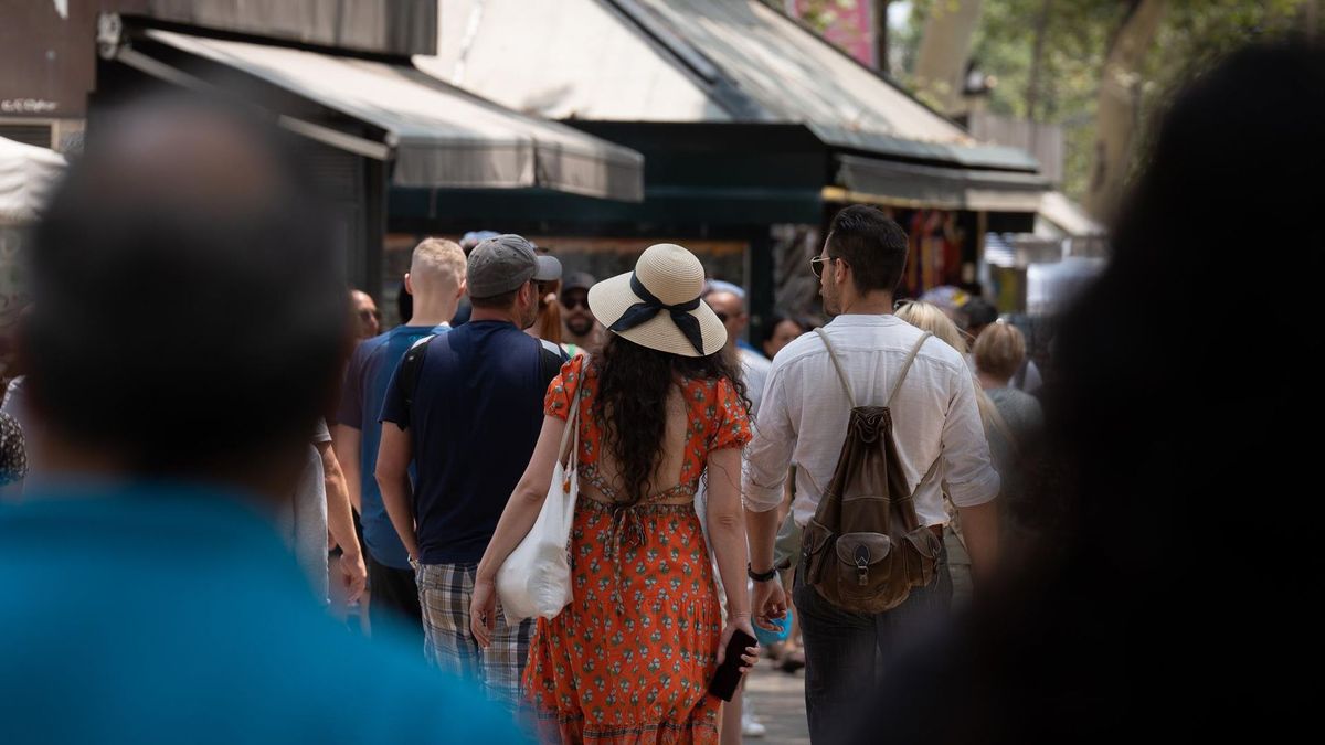
[[[433,338],[405,410],[391,379],[382,422],[409,430],[417,469],[413,508],[421,563],[482,558],[543,427],[556,375],[543,345],[504,321],[470,321]]]

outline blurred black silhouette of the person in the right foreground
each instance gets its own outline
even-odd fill
[[[1272,281],[1284,245],[1298,247],[1293,276],[1321,276],[1322,90],[1325,49],[1253,46],[1173,101],[1113,258],[1057,334],[1064,374],[1044,396],[1057,449],[1035,497],[1045,538],[901,665],[861,742],[881,722],[901,742],[1277,740],[1310,725],[1314,689],[1297,681],[1320,659],[1320,557],[1300,506],[1320,457],[1305,432],[1325,415],[1314,293],[1287,286],[1268,315],[1166,319],[1240,300],[1257,268]],[[1220,359],[1244,365],[1212,374]]]

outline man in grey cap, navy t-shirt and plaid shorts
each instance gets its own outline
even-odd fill
[[[493,644],[480,650],[469,601],[478,559],[538,441],[547,384],[564,361],[555,345],[523,333],[538,317],[538,282],[559,277],[560,264],[519,236],[480,243],[468,268],[473,315],[427,342],[415,362],[405,358],[382,408],[378,481],[416,562],[429,658],[482,680],[489,697],[511,708],[521,703],[533,623],[509,627],[498,612]]]

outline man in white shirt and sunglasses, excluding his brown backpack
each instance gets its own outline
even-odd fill
[[[914,326],[892,315],[893,292],[906,264],[906,233],[872,207],[848,207],[832,223],[811,268],[820,277],[824,309],[836,318],[825,330],[841,359],[859,406],[882,406],[908,354],[921,338]],[[772,573],[787,465],[795,463],[792,513],[804,528],[819,506],[837,465],[851,412],[847,392],[819,334],[804,334],[778,353],[768,372],[745,477],[750,575],[755,579],[755,622],[786,612],[786,595]],[[893,439],[908,483],[916,488],[937,459],[937,473],[916,490],[921,525],[947,521],[942,492],[958,508],[977,581],[998,553],[998,513],[992,502],[999,477],[975,408],[975,386],[957,350],[926,341],[892,402]],[[792,598],[806,643],[806,709],[815,742],[841,741],[867,715],[878,680],[877,659],[900,638],[924,628],[951,601],[951,577],[941,557],[935,581],[913,589],[896,608],[864,615],[844,611],[803,582],[796,570]]]

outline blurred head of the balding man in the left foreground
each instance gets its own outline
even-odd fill
[[[307,443],[348,313],[295,150],[197,101],[97,119],[30,252],[32,391],[53,436],[167,477]]]

